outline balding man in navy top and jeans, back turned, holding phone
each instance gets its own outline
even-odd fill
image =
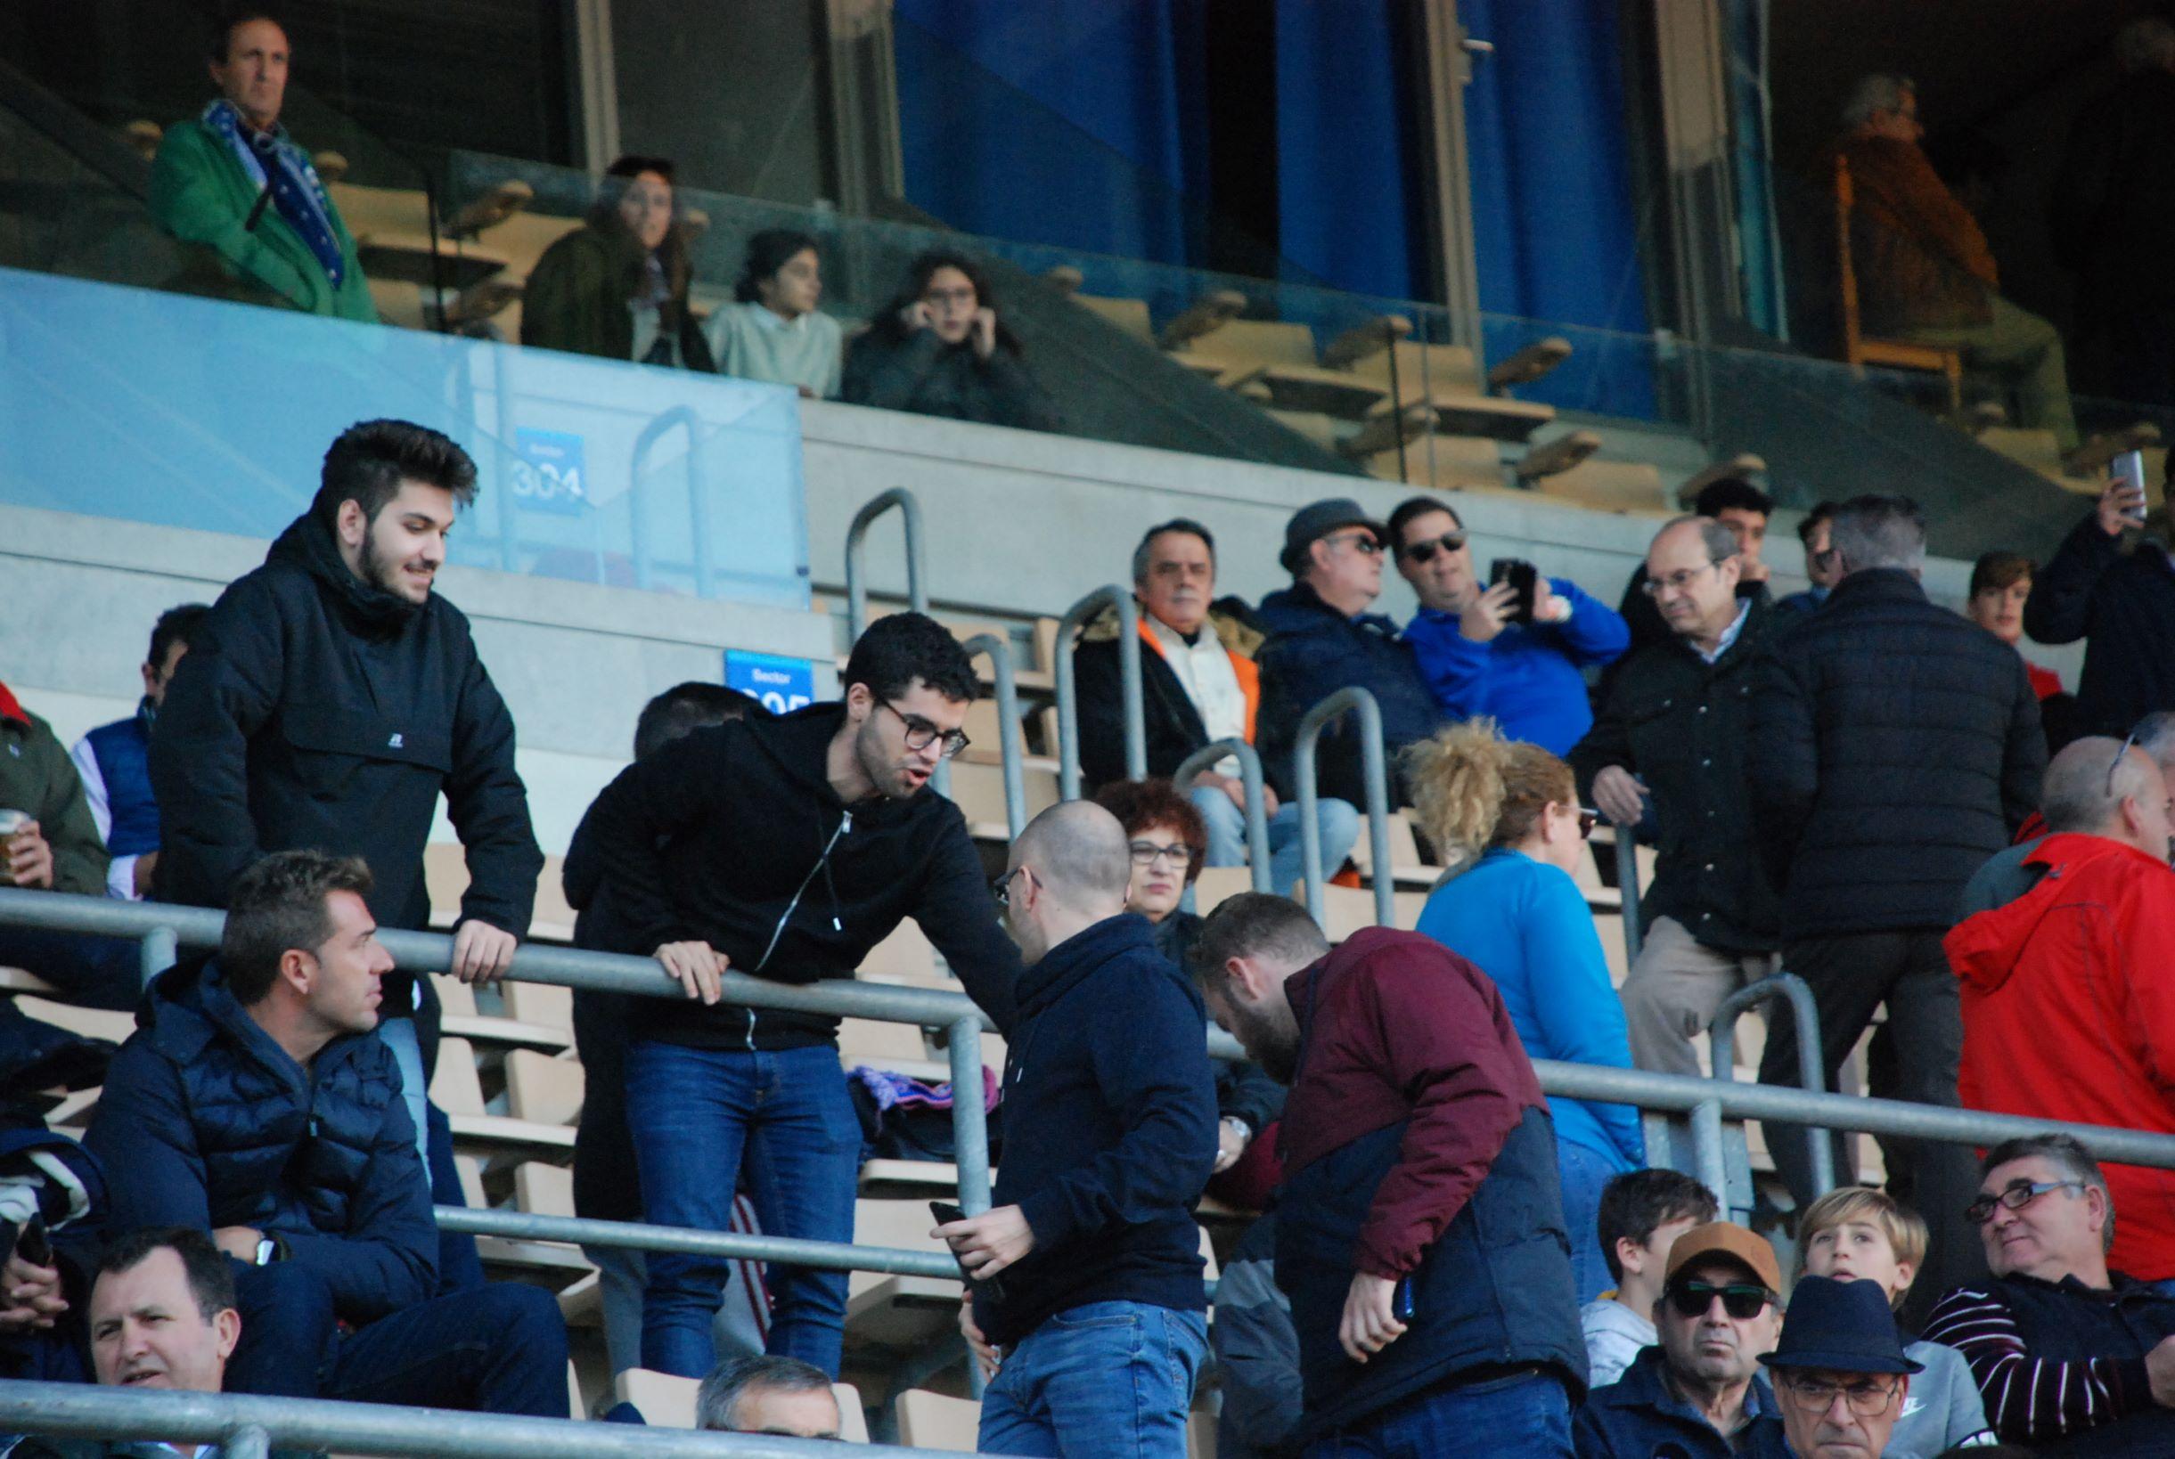
[[[1192,978],[1124,909],[1131,850],[1092,800],[1020,833],[996,896],[1027,974],[996,1209],[935,1229],[972,1276],[985,1455],[1185,1455],[1207,1357],[1192,1209],[1216,1089]]]

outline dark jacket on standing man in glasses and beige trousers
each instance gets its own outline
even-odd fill
[[[1653,791],[1662,850],[1640,920],[1675,918],[1723,952],[1773,952],[1781,935],[1781,898],[1760,861],[1744,781],[1753,665],[1779,613],[1751,600],[1738,639],[1712,665],[1675,635],[1638,650],[1570,752],[1586,805],[1609,765]]]

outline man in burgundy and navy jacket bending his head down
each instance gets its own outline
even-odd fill
[[[1277,1285],[1309,1455],[1564,1457],[1586,1346],[1555,1126],[1494,983],[1442,944],[1366,928],[1335,952],[1296,902],[1201,928],[1216,1022],[1292,1085]]]

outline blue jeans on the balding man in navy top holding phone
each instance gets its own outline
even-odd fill
[[[1088,1302],[1005,1352],[981,1396],[985,1455],[1185,1459],[1185,1413],[1209,1350],[1198,1311]]]

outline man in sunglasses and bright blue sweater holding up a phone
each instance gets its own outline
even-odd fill
[[[1516,622],[1516,589],[1481,587],[1466,524],[1440,496],[1414,496],[1390,513],[1390,550],[1420,598],[1405,641],[1442,711],[1488,715],[1509,739],[1568,755],[1594,722],[1583,670],[1623,654],[1625,620],[1570,578],[1536,578],[1533,618]]]

